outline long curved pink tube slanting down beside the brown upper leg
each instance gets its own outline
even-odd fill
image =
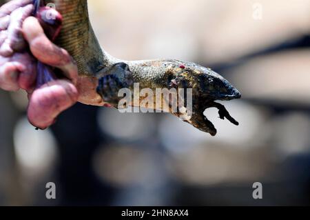
[[[28,17],[23,22],[23,36],[30,45],[34,57],[42,63],[59,68],[65,77],[76,84],[78,77],[77,66],[68,52],[54,45],[44,34],[39,21]]]

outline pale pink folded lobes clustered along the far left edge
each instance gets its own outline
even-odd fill
[[[32,90],[36,77],[34,60],[21,33],[23,20],[32,13],[31,0],[14,0],[0,8],[0,88]]]

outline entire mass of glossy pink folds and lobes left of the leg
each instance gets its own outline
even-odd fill
[[[28,92],[28,119],[45,129],[76,103],[77,67],[66,50],[46,37],[38,19],[31,17],[33,10],[32,0],[14,0],[0,8],[0,88]],[[52,69],[38,66],[38,61]],[[61,74],[53,77],[53,72]]]

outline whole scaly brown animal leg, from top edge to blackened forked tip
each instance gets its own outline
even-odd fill
[[[193,115],[191,119],[185,121],[196,128],[209,132],[211,135],[216,134],[213,124],[203,114],[206,108],[213,107],[218,108],[221,119],[227,118],[231,123],[238,125],[238,122],[229,115],[225,107],[214,101],[239,99],[241,97],[240,92],[216,72],[196,63],[173,59],[153,61],[122,61],[116,59],[101,50],[99,46],[89,21],[87,0],[54,0],[46,2],[55,3],[56,10],[59,10],[63,15],[64,26],[57,43],[68,50],[76,60],[79,75],[85,77],[80,86],[83,86],[83,83],[87,81],[87,83],[96,87],[97,81],[94,77],[104,78],[110,75],[108,80],[101,80],[101,84],[97,88],[97,92],[105,99],[104,102],[117,107],[116,101],[118,99],[113,98],[117,97],[117,93],[114,92],[108,96],[107,93],[111,92],[111,90],[117,91],[122,86],[132,89],[132,85],[125,85],[126,83],[122,83],[121,79],[118,80],[121,81],[119,85],[111,81],[116,75],[119,78],[128,70],[124,65],[121,65],[123,68],[113,65],[126,63],[130,72],[132,72],[132,82],[140,83],[141,89],[152,89],[154,94],[156,88],[192,88]],[[111,66],[113,67],[111,68]],[[113,86],[117,89],[111,89]],[[107,99],[109,96],[110,99]],[[99,101],[97,104],[103,104],[97,94],[93,94],[92,97],[94,102]],[[83,100],[80,101],[83,102]],[[140,106],[140,104],[135,105],[132,103],[134,106]],[[174,114],[180,116],[178,113]]]

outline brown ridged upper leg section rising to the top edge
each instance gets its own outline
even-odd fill
[[[51,1],[45,1],[48,3]],[[87,0],[53,0],[63,15],[63,27],[56,44],[65,48],[77,63],[79,75],[94,76],[116,62],[99,45],[90,23]]]

